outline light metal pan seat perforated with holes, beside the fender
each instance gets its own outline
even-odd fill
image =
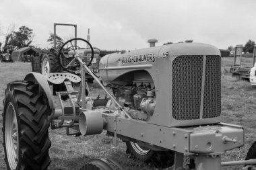
[[[79,76],[73,75],[71,73],[48,73],[47,74],[47,80],[53,84],[61,84],[65,81],[65,79],[68,79],[73,83],[79,83],[81,81],[81,78]]]

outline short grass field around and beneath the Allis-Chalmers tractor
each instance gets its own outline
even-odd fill
[[[243,62],[250,62],[251,58]],[[228,151],[222,161],[244,160],[252,142],[256,140],[256,87],[249,82],[238,80],[229,73],[233,58],[222,58],[222,122],[245,126],[245,146]],[[0,62],[0,113],[3,112],[3,97],[7,83],[24,79],[31,71],[30,62]],[[97,95],[96,85],[92,85],[94,95]],[[57,104],[57,103],[55,103]],[[0,127],[3,125],[0,117]],[[113,138],[104,133],[93,136],[67,136],[65,129],[49,130],[52,146],[50,149],[51,165],[49,169],[79,169],[92,158],[106,157],[120,163],[125,169],[155,169],[150,165],[129,158],[125,154],[126,146],[119,140],[117,147],[113,146]],[[0,131],[0,142],[3,134]],[[0,169],[5,169],[3,146],[0,145]],[[241,169],[228,167],[225,169]]]

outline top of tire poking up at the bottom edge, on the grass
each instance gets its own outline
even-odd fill
[[[123,170],[123,168],[111,159],[93,159],[79,170]]]

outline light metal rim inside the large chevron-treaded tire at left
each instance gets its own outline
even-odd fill
[[[12,103],[7,105],[5,114],[5,148],[11,169],[16,169],[19,155],[18,122]]]

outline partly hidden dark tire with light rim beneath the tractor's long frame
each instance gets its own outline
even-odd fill
[[[126,153],[130,154],[134,159],[139,159],[146,163],[152,163],[155,167],[166,168],[174,164],[173,151],[152,151],[149,148],[139,146],[137,142],[126,142]]]

